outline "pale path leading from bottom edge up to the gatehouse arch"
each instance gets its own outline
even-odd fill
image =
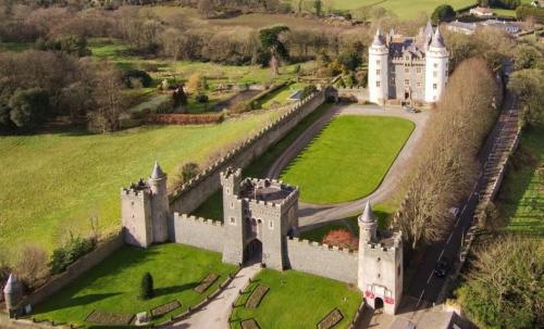
[[[249,278],[261,270],[260,264],[244,267],[210,304],[193,314],[190,317],[165,328],[185,329],[227,329],[231,305],[236,301],[238,291],[244,289]]]

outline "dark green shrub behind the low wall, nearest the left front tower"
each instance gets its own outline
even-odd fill
[[[62,246],[53,250],[49,267],[52,274],[66,270],[71,264],[83,255],[89,253],[96,246],[96,240],[70,236],[70,240]]]

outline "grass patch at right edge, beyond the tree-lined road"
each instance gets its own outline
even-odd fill
[[[522,132],[499,193],[506,230],[544,237],[544,125]]]

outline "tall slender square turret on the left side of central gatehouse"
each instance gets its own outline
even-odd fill
[[[240,169],[234,170],[233,168],[227,168],[225,173],[221,173],[225,232],[223,262],[231,264],[244,263],[247,219],[244,217],[244,201],[238,198],[240,182]]]

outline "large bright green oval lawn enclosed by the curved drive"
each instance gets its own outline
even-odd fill
[[[300,200],[327,204],[372,193],[413,130],[407,119],[343,115],[331,124],[282,173],[299,186]]]

